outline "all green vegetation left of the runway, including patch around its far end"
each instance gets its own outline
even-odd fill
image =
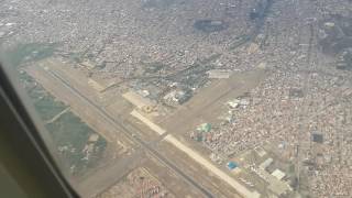
[[[57,44],[19,44],[3,54],[4,62],[19,70],[21,85],[44,123],[65,110],[67,106],[56,100],[35,79],[21,70],[21,66],[53,56]],[[81,174],[86,168],[94,167],[106,150],[106,140],[70,111],[45,127],[52,134],[57,152],[61,153],[73,174]],[[98,139],[89,142],[89,138],[94,135],[98,135]]]

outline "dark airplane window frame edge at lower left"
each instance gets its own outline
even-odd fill
[[[58,157],[51,152],[48,133],[26,102],[13,73],[11,67],[0,64],[0,142],[1,147],[7,146],[0,152],[1,166],[28,197],[79,197],[59,168]]]

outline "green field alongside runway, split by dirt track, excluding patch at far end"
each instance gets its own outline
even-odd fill
[[[67,108],[64,102],[56,100],[26,73],[20,73],[20,79],[44,122]],[[86,168],[95,167],[106,150],[107,141],[70,111],[45,127],[56,144],[57,152],[61,153],[74,175],[84,173]],[[99,138],[89,142],[91,135]]]

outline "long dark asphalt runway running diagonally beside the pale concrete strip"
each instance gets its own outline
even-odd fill
[[[82,101],[86,101],[87,105],[89,105],[91,108],[95,108],[97,112],[101,116],[101,118],[109,121],[118,131],[123,132],[131,141],[138,143],[141,147],[145,148],[147,153],[150,153],[152,156],[157,158],[161,163],[163,163],[165,166],[170,168],[174,173],[176,173],[178,176],[180,176],[185,182],[190,184],[193,187],[201,191],[206,197],[213,197],[213,195],[208,191],[206,188],[200,186],[196,180],[194,180],[191,177],[186,175],[183,170],[180,170],[174,163],[172,163],[169,160],[164,157],[157,150],[153,148],[151,144],[147,142],[141,140],[136,134],[139,129],[136,129],[132,123],[129,123],[127,121],[120,121],[111,117],[105,109],[100,108],[98,105],[96,105],[94,101],[91,101],[89,98],[84,96],[79,90],[70,86],[63,77],[59,76],[59,74],[55,73],[51,69],[45,69],[45,72],[61,81],[67,89],[69,89],[74,95],[76,95],[78,98],[80,98]]]

